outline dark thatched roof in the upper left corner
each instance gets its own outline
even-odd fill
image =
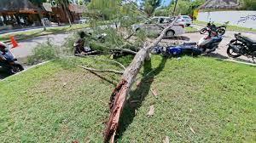
[[[0,13],[20,10],[36,10],[28,0],[0,0]]]

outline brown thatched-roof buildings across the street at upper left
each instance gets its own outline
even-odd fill
[[[67,23],[67,14],[71,22],[79,20],[84,8],[70,3],[66,14],[63,5],[52,6],[50,3],[43,3],[39,9],[29,0],[0,0],[0,30],[42,26],[38,11],[44,17],[46,25],[50,25],[50,22]]]

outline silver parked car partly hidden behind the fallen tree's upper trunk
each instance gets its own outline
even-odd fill
[[[132,25],[133,31],[138,30],[146,30],[148,32],[157,32],[160,34],[160,32],[166,28],[166,26],[169,26],[172,23],[172,20],[174,20],[174,17],[166,17],[166,16],[158,16],[158,17],[152,17],[150,20],[146,20],[143,23],[140,24],[134,24]],[[166,37],[172,37],[181,35],[184,33],[184,22],[182,20],[177,20],[174,26],[170,28],[168,31],[166,31]]]

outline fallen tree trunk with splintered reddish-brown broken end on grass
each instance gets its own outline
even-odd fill
[[[113,90],[113,94],[111,94],[110,97],[110,115],[107,128],[104,133],[104,142],[108,142],[108,140],[111,140],[110,142],[114,141],[114,136],[119,126],[119,118],[125,106],[127,94],[129,94],[131,86],[137,77],[137,73],[143,66],[144,60],[149,57],[150,51],[154,48],[154,46],[160,43],[161,39],[165,36],[166,31],[168,31],[174,25],[176,20],[177,17],[175,20],[172,21],[169,26],[161,31],[160,37],[157,37],[154,40],[154,43],[144,43],[143,49],[140,49],[137,52],[134,59],[131,61],[130,66],[125,69],[121,81],[119,82],[118,86]]]

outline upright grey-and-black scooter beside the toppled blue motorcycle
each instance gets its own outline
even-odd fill
[[[218,49],[219,43],[223,40],[222,35],[218,35],[216,31],[212,31],[212,29],[207,27],[208,36],[201,37],[199,42],[197,43],[197,48],[201,49],[203,53],[210,54],[211,52]]]

